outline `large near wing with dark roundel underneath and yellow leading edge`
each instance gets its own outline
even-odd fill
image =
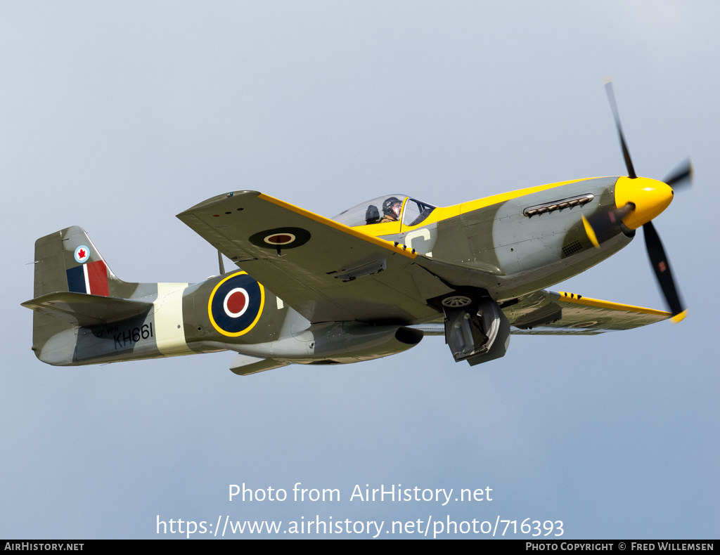
[[[427,299],[453,291],[431,258],[257,191],[178,217],[310,322],[422,322],[440,312]]]

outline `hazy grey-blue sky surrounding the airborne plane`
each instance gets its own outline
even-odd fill
[[[712,1],[0,2],[0,537],[226,515],[719,537],[719,24]],[[233,353],[55,368],[30,351],[42,235],[81,225],[122,279],[197,282],[217,252],[175,215],[225,191],[331,217],[389,192],[447,205],[620,175],[608,73],[637,173],[696,166],[655,220],[679,325],[516,336],[472,368],[426,338],[248,377]],[[553,289],[663,307],[642,233]],[[289,499],[228,501],[243,482]],[[341,500],[294,502],[297,482]],[[492,501],[361,502],[356,484]]]

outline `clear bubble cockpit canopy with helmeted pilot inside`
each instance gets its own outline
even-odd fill
[[[406,194],[386,194],[356,204],[333,220],[349,227],[399,221],[403,226],[411,227],[425,220],[435,208]]]

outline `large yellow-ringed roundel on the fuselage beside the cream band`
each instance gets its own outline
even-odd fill
[[[235,272],[215,286],[207,301],[210,323],[222,335],[238,337],[260,320],[265,289],[246,272]]]

